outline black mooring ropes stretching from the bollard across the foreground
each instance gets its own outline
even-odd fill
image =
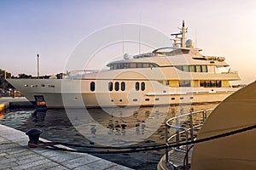
[[[41,144],[44,144],[44,148],[48,148],[50,150],[64,150],[64,151],[70,151],[70,152],[79,152],[79,153],[88,153],[88,154],[118,154],[118,153],[133,153],[133,152],[141,152],[141,151],[149,151],[149,150],[164,150],[166,148],[172,148],[172,147],[178,147],[183,146],[186,144],[199,144],[202,142],[207,142],[213,139],[221,139],[224,137],[228,137],[231,135],[235,135],[238,133],[244,133],[250,130],[253,130],[256,128],[256,125],[252,125],[249,127],[243,127],[234,131],[230,131],[228,133],[221,133],[218,135],[214,135],[211,137],[207,137],[204,139],[196,139],[194,141],[190,142],[183,142],[180,144],[155,144],[155,145],[146,145],[146,146],[128,146],[128,147],[112,147],[112,146],[89,146],[84,144],[67,144],[67,143],[61,143],[61,142],[49,142],[45,143],[40,141]],[[55,144],[62,144],[66,146],[74,146],[74,147],[82,147],[82,148],[94,148],[94,149],[105,149],[103,151],[98,150],[71,150],[66,148],[60,148],[55,146]],[[39,144],[38,144],[39,145]],[[35,144],[36,146],[36,144]],[[40,147],[40,146],[39,146]],[[107,149],[107,150],[106,150]],[[109,150],[108,150],[109,149]]]

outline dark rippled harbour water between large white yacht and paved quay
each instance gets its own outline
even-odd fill
[[[127,146],[164,144],[165,121],[189,111],[215,108],[218,103],[155,107],[0,112],[0,123],[23,132],[43,131],[41,137],[72,144]],[[91,149],[93,150],[93,149]],[[93,154],[134,169],[156,169],[164,150],[125,154]]]

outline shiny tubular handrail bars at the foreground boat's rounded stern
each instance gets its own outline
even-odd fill
[[[181,134],[183,134],[183,133],[185,133],[185,142],[186,143],[188,143],[189,141],[194,141],[195,128],[201,127],[203,122],[205,122],[207,120],[207,113],[212,112],[212,111],[213,111],[213,109],[206,110],[206,111],[193,111],[193,112],[183,114],[180,116],[172,117],[171,119],[167,120],[166,121],[166,146],[169,145],[168,143],[172,139],[176,139],[176,144],[179,144]],[[198,114],[202,114],[201,124],[194,125],[194,122],[193,122],[194,117],[193,116],[198,115]],[[179,120],[181,118],[187,118],[188,116],[189,116],[189,126],[188,125],[187,126],[179,125],[180,124]],[[174,123],[175,125],[173,125],[172,122],[175,122]],[[171,129],[171,128],[176,129],[176,132],[173,133],[170,137],[168,137],[168,132],[169,132],[169,129]],[[170,133],[171,133],[171,130],[170,130]],[[185,147],[183,147],[183,148],[180,148],[180,147],[172,148],[172,150],[177,150],[177,151],[186,153],[189,150],[189,144],[185,145]],[[166,163],[169,162],[168,161],[169,160],[168,152],[169,152],[168,147],[166,147]],[[187,159],[188,159],[188,157],[187,157]]]

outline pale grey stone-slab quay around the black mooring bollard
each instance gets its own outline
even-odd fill
[[[27,142],[25,133],[0,124],[0,169],[131,169],[89,154],[29,148]]]

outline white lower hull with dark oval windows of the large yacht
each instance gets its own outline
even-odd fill
[[[172,88],[157,81],[8,79],[26,99],[44,96],[48,108],[94,108],[124,106],[178,105],[223,101],[238,88]],[[90,83],[95,82],[95,89]],[[125,83],[125,89],[109,90],[109,82]],[[137,90],[135,84],[145,83]]]

